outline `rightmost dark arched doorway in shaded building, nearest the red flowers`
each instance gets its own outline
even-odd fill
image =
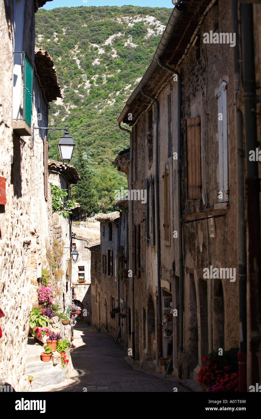
[[[214,279],[212,301],[213,349],[225,350],[225,312],[222,281]]]

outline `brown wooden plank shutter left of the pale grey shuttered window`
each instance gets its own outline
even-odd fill
[[[201,198],[200,116],[187,119],[189,199]]]

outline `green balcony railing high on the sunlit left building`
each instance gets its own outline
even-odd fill
[[[20,57],[19,57],[20,56]],[[18,120],[26,121],[31,127],[32,103],[33,103],[33,65],[26,52],[14,52],[14,65],[21,65],[22,70],[22,100],[20,117]]]

